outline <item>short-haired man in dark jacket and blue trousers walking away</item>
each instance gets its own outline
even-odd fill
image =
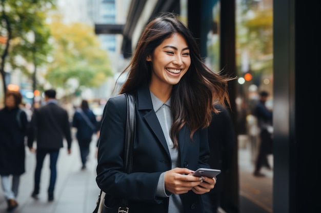
[[[35,152],[33,141],[37,141],[36,169],[34,173],[34,190],[32,197],[38,199],[41,170],[47,154],[50,155],[50,181],[48,187],[48,201],[53,201],[54,186],[56,182],[56,163],[59,149],[62,148],[64,137],[67,140],[68,154],[71,153],[71,131],[68,112],[58,106],[56,91],[45,91],[46,105],[34,110],[28,131],[28,147]]]

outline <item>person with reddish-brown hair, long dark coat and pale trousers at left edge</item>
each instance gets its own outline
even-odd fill
[[[0,110],[0,175],[8,211],[18,206],[16,197],[19,180],[25,173],[25,136],[28,120],[26,112],[19,109],[21,102],[20,92],[8,90],[5,107]]]

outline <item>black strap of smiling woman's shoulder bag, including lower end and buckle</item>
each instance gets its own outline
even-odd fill
[[[136,124],[136,113],[135,113],[135,97],[131,94],[125,93],[127,100],[127,117],[126,117],[126,134],[125,134],[125,148],[124,148],[124,168],[127,174],[132,172],[132,148],[134,143],[134,133]],[[103,190],[98,195],[98,200],[96,202],[96,208],[93,213],[98,212],[99,203],[101,202]],[[122,200],[123,203],[128,206],[127,200]]]

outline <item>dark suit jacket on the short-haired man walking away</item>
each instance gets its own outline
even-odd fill
[[[67,110],[55,103],[34,110],[28,131],[28,147],[37,141],[37,149],[57,150],[64,146],[64,137],[68,149],[71,147],[71,131]]]

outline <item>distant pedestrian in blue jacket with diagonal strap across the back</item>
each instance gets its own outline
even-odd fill
[[[82,170],[84,170],[86,169],[92,135],[97,129],[96,116],[89,108],[87,100],[82,100],[81,107],[76,109],[72,119],[72,126],[77,129],[76,138],[81,154]]]

